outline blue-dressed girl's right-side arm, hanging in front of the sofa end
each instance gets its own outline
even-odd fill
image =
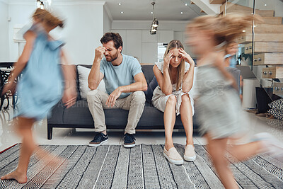
[[[65,89],[62,101],[67,108],[76,103],[76,73],[69,65],[63,50],[61,51],[62,70],[65,80]]]

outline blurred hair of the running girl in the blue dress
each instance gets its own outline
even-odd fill
[[[60,20],[56,16],[53,16],[52,13],[46,11],[45,9],[37,8],[35,13],[33,13],[33,19],[38,19],[40,22],[46,23],[50,27],[64,27],[64,23],[62,20]]]

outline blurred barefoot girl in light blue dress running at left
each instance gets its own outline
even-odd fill
[[[68,108],[76,100],[71,69],[62,66],[64,69],[62,71],[59,65],[60,59],[65,59],[61,50],[63,43],[53,40],[49,35],[57,26],[63,27],[62,21],[40,8],[37,8],[33,14],[33,21],[33,26],[24,34],[26,44],[23,53],[3,90],[4,93],[15,91],[14,81],[23,71],[17,87],[21,100],[18,104],[18,114],[14,119],[16,130],[22,137],[21,154],[16,171],[1,177],[1,179],[15,179],[18,183],[27,182],[28,162],[33,151],[37,149],[33,141],[32,126],[35,121],[45,118],[52,106],[60,101],[64,80],[66,89],[63,103]],[[41,156],[48,157],[42,149],[40,151]]]

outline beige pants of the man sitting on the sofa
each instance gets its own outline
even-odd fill
[[[100,91],[98,89],[89,91],[87,96],[88,108],[93,115],[94,127],[96,132],[102,132],[106,130],[104,109],[111,109],[105,105],[108,99],[108,93]],[[137,123],[141,114],[144,111],[144,103],[146,101],[143,91],[135,91],[125,98],[117,98],[113,108],[120,108],[123,110],[129,110],[128,122],[125,128],[125,132],[134,134],[136,132]]]

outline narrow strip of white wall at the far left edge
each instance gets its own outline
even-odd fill
[[[8,4],[0,1],[0,62],[9,61],[8,43]]]

